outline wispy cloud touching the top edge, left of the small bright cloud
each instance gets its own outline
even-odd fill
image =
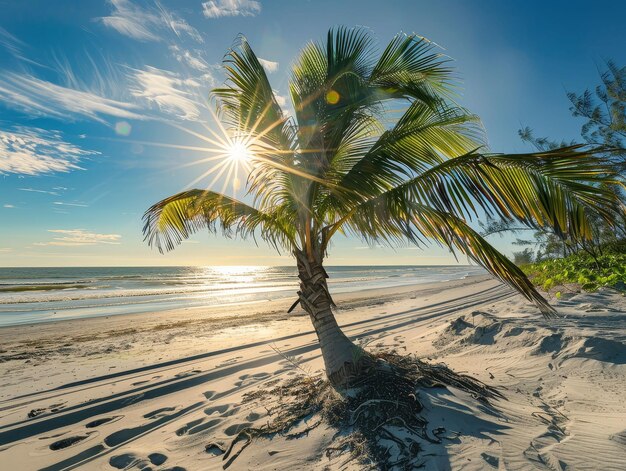
[[[179,38],[188,36],[204,42],[197,29],[158,2],[155,8],[144,8],[130,0],[109,0],[109,3],[111,15],[100,20],[120,34],[140,41],[161,41],[163,33],[171,31]]]

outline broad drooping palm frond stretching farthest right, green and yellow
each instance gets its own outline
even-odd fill
[[[446,160],[390,193],[459,217],[496,214],[573,239],[592,237],[593,215],[615,220],[615,169],[581,146],[532,154],[470,152]],[[478,211],[480,208],[481,211]]]

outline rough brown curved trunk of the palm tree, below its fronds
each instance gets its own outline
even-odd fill
[[[365,351],[341,331],[332,312],[335,303],[328,291],[328,275],[321,262],[311,261],[304,252],[295,252],[298,263],[302,308],[311,317],[326,368],[326,375],[335,387],[346,387],[370,364]]]

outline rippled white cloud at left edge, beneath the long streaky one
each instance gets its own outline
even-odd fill
[[[0,174],[40,175],[68,172],[80,169],[78,161],[94,154],[98,152],[66,142],[56,131],[24,127],[13,132],[0,130]]]

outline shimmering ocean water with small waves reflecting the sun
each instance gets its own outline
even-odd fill
[[[327,267],[333,293],[462,279],[475,266]],[[0,326],[295,300],[295,267],[0,268]]]

